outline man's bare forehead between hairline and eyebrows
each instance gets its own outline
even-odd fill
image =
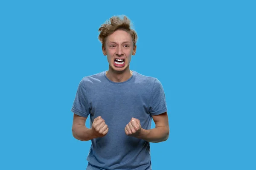
[[[115,42],[124,42],[129,41],[132,42],[131,35],[123,30],[117,30],[113,32],[113,34],[107,37],[107,42],[115,41]]]

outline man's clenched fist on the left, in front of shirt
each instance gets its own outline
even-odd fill
[[[103,137],[108,133],[108,125],[105,124],[105,120],[101,116],[93,120],[92,131],[96,138]]]

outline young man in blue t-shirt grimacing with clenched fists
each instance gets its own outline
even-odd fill
[[[71,109],[73,136],[92,142],[87,170],[151,170],[149,143],[169,137],[163,87],[130,70],[137,34],[127,17],[111,17],[99,31],[109,69],[81,79]]]

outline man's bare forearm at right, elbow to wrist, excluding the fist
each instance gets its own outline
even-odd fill
[[[169,127],[160,126],[150,130],[141,129],[137,138],[153,143],[166,141],[169,138]]]

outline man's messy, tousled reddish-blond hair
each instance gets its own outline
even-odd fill
[[[102,43],[102,47],[105,47],[106,38],[111,35],[116,30],[123,30],[131,35],[133,45],[136,45],[138,36],[134,29],[131,28],[131,21],[124,16],[123,18],[118,16],[113,16],[102,24],[99,28],[99,40]]]

